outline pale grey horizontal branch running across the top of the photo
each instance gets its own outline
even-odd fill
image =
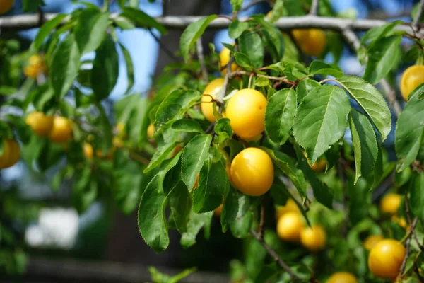
[[[46,13],[43,22],[57,16],[56,13]],[[119,16],[117,13],[112,13],[110,18]],[[68,16],[64,19],[64,23],[69,21],[71,17]],[[184,29],[191,23],[199,21],[202,16],[160,16],[155,20],[164,25],[165,28],[170,29]],[[247,21],[248,17],[240,17],[240,21]],[[294,28],[322,28],[326,30],[370,30],[388,23],[387,21],[372,20],[372,19],[358,19],[350,20],[346,18],[333,18],[333,17],[320,17],[313,15],[306,16],[290,16],[278,19],[275,23],[276,27],[281,30],[293,30]],[[227,16],[218,16],[215,20],[208,25],[208,28],[228,28],[230,21]],[[23,14],[17,16],[0,17],[0,28],[2,30],[28,30],[30,28],[40,27],[40,16],[37,14]],[[144,26],[138,25],[139,28]],[[396,30],[404,30],[409,35],[414,35],[415,30],[407,25],[398,25]],[[423,36],[424,32],[418,33],[418,36]]]

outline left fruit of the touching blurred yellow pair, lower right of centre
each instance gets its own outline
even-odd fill
[[[288,212],[277,221],[277,234],[281,240],[298,242],[300,231],[305,227],[302,215],[298,212]]]

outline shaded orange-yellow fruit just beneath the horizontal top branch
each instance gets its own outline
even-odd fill
[[[293,37],[303,53],[310,56],[319,56],[326,47],[326,35],[324,31],[316,28],[308,30],[293,30]]]

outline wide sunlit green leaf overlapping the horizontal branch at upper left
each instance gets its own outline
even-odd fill
[[[105,38],[107,25],[109,25],[107,13],[92,8],[81,11],[74,32],[81,54],[98,49]]]

